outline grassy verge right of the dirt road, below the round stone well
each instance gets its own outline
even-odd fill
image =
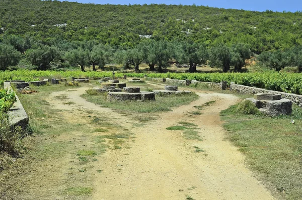
[[[301,199],[302,109],[293,106],[291,116],[271,118],[240,114],[238,106],[221,112],[228,138],[273,193],[282,199]],[[295,124],[290,124],[291,119]]]

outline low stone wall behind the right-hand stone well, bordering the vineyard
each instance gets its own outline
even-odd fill
[[[282,98],[290,99],[292,101],[292,103],[302,107],[302,95],[285,93],[285,92],[277,92],[277,91],[273,91],[273,90],[265,90],[265,89],[261,89],[261,88],[254,88],[254,87],[237,85],[237,84],[231,84],[230,91],[235,91],[235,92],[239,92],[239,93],[243,93],[243,94],[256,94],[256,93],[281,94]]]

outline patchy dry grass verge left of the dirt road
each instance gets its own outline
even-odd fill
[[[32,89],[38,92],[19,98],[33,134],[23,139],[22,157],[0,172],[0,199],[89,199],[93,175],[102,171],[99,155],[124,148],[133,136],[94,111],[55,109],[50,94],[73,87]]]

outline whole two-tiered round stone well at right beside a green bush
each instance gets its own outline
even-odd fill
[[[291,100],[282,99],[281,94],[259,93],[246,100],[252,101],[261,112],[269,116],[289,115],[292,111]]]

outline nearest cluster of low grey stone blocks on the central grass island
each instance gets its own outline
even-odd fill
[[[107,100],[109,101],[127,101],[127,100],[155,100],[154,92],[140,91],[138,87],[124,87],[123,92],[108,92]]]

